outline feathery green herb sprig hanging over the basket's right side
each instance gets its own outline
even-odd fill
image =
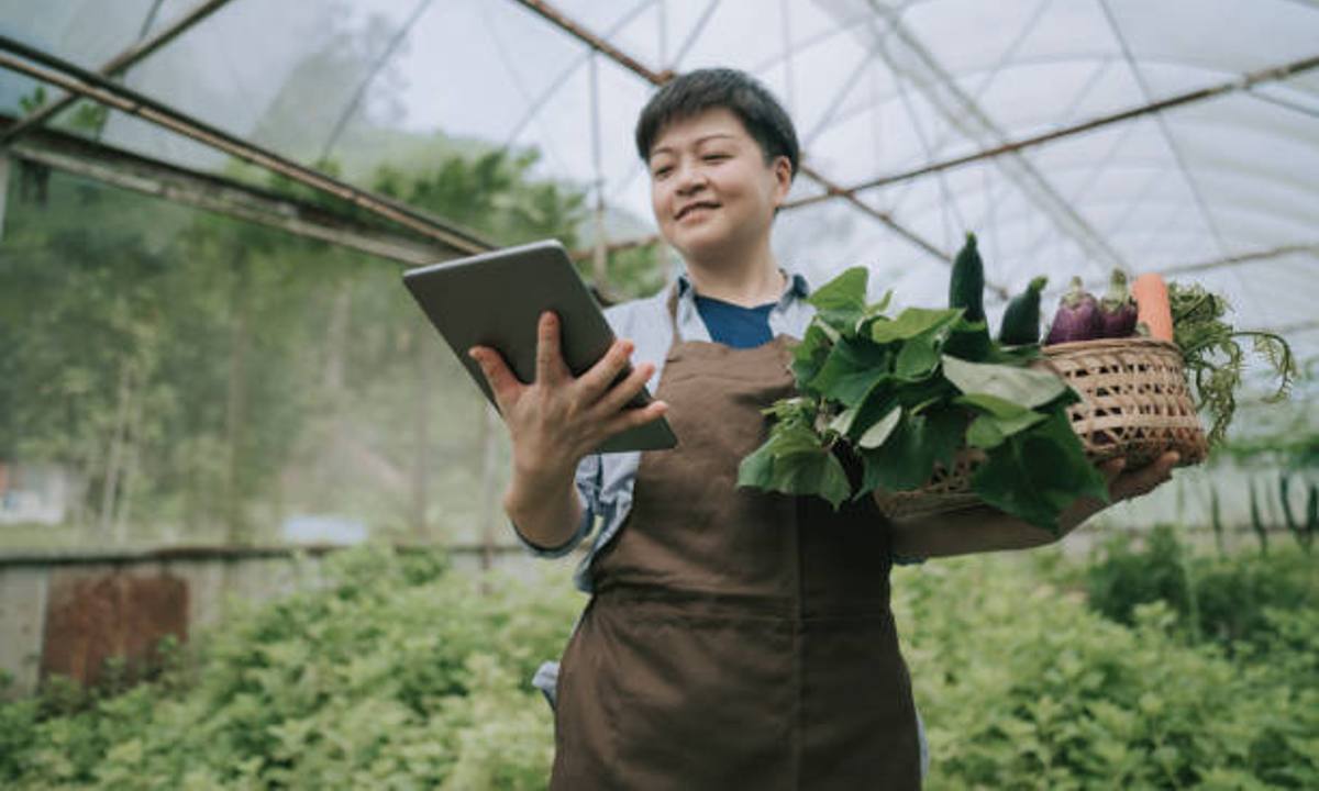
[[[1246,353],[1237,339],[1250,339],[1256,355],[1264,357],[1278,377],[1278,389],[1265,398],[1283,401],[1297,377],[1297,360],[1287,341],[1275,332],[1237,330],[1223,320],[1232,307],[1199,283],[1167,285],[1173,311],[1173,340],[1182,349],[1187,372],[1195,385],[1196,407],[1208,411],[1210,444],[1227,436],[1236,413],[1236,392],[1241,386]]]

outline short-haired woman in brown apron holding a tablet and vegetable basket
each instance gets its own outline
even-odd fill
[[[988,508],[894,523],[869,500],[835,513],[818,498],[737,489],[739,461],[768,430],[761,409],[794,392],[790,343],[813,310],[805,279],[770,250],[797,136],[753,79],[703,70],[652,98],[637,149],[686,273],[611,308],[620,340],[578,378],[550,314],[532,384],[493,349],[472,349],[512,436],[504,506],[518,535],[562,555],[601,521],[578,572],[591,601],[557,678],[541,675],[557,693],[550,786],[918,788],[892,563],[1055,537]],[[634,351],[646,361],[615,384]],[[625,410],[648,382],[657,399]],[[661,415],[675,450],[592,454]],[[1121,476],[1115,463],[1113,500],[1154,488],[1175,461]],[[1060,533],[1100,508],[1078,501]]]

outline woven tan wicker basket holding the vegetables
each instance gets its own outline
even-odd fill
[[[1045,347],[1043,353],[1034,365],[1054,370],[1082,397],[1067,407],[1067,417],[1095,463],[1122,456],[1128,469],[1137,469],[1166,451],[1181,454],[1178,465],[1199,464],[1208,455],[1174,344],[1148,337],[1082,340]],[[880,509],[897,518],[979,505],[971,473],[983,459],[967,448],[952,471],[936,467],[925,486],[881,494]]]

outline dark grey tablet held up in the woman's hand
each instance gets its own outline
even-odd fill
[[[532,382],[542,312],[553,310],[559,316],[563,360],[572,376],[586,373],[615,340],[600,305],[555,240],[410,269],[404,273],[404,285],[491,403],[495,394],[481,366],[467,356],[474,345],[497,349],[518,380]],[[630,370],[628,365],[619,381]],[[628,406],[642,407],[650,401],[650,393],[642,390]],[[669,422],[660,418],[607,439],[596,452],[656,451],[677,444]]]

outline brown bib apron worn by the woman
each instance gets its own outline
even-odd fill
[[[559,667],[550,787],[919,788],[915,708],[889,609],[889,523],[868,497],[739,489],[790,345],[674,341],[646,452],[592,562]],[[855,471],[853,471],[855,472]]]

